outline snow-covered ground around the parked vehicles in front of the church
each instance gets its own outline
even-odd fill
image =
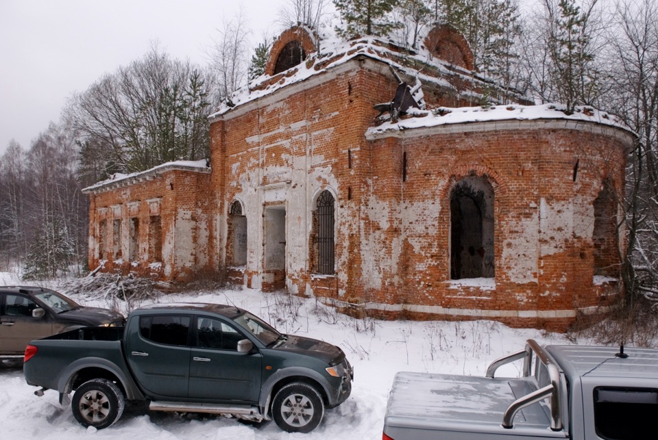
[[[0,272],[0,285],[21,282]],[[49,285],[58,289],[57,285]],[[62,292],[64,292],[62,290]],[[84,305],[112,307],[106,300],[90,300],[64,292]],[[124,413],[105,430],[83,428],[62,408],[56,391],[39,398],[25,383],[21,367],[0,369],[0,438],[2,439],[381,439],[387,396],[398,371],[483,375],[487,365],[504,354],[521,350],[526,339],[569,344],[563,335],[518,330],[489,321],[413,322],[356,320],[341,315],[313,298],[263,294],[256,290],[222,290],[172,294],[160,301],[228,303],[269,321],[282,333],[322,339],[340,346],[354,365],[352,396],[326,411],[321,425],[309,434],[289,434],[274,422],[250,426],[214,415]],[[125,304],[119,309],[126,313]],[[516,376],[518,365],[500,374]]]

